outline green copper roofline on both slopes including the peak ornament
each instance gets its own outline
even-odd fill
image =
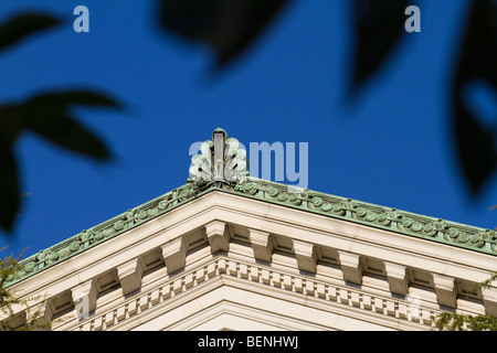
[[[20,261],[23,271],[7,286],[52,267],[128,232],[211,191],[221,191],[497,256],[497,232],[456,222],[384,207],[352,199],[299,189],[247,175],[246,151],[235,138],[218,128],[192,157],[188,183],[130,208],[89,229]]]

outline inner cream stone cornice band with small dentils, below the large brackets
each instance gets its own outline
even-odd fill
[[[334,285],[308,276],[216,256],[203,266],[175,276],[165,284],[64,330],[130,330],[222,286],[241,287],[285,302],[352,315],[391,329],[408,325],[410,329],[426,330],[432,325],[432,315],[440,312],[424,308],[412,317],[410,302],[402,298],[374,295],[351,286]],[[150,310],[151,308],[156,310]]]

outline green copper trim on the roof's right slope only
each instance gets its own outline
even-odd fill
[[[242,191],[256,200],[497,256],[495,231],[309,190],[288,192],[289,188],[257,180],[236,185],[234,193]]]

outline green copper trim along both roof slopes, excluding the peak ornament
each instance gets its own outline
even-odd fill
[[[236,183],[221,181],[200,185],[191,181],[23,259],[21,265],[23,265],[24,271],[18,278],[11,278],[7,285],[12,286],[22,281],[211,191],[226,192],[497,256],[497,234],[494,231],[309,190],[289,192],[290,188],[253,178]]]

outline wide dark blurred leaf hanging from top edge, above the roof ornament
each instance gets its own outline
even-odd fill
[[[257,39],[288,0],[161,0],[160,24],[207,44],[221,67]]]

